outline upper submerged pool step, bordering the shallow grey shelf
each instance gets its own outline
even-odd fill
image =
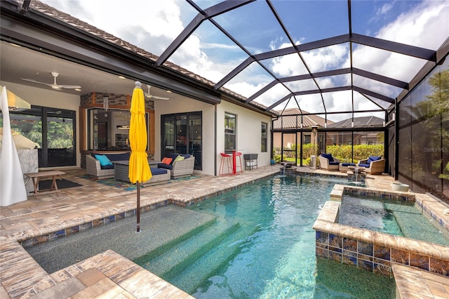
[[[202,227],[196,234],[189,234],[187,238],[177,239],[170,247],[158,248],[138,260],[135,263],[162,277],[170,279],[188,266],[192,261],[220,244],[229,234],[239,229],[239,222],[218,218],[213,225]]]

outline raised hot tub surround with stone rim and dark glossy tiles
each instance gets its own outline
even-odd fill
[[[448,246],[338,223],[343,194],[389,197],[403,201],[416,200],[417,207],[422,210],[423,215],[433,218],[434,222],[440,225],[441,232],[448,234],[449,218],[442,212],[436,212],[436,210],[445,211],[445,206],[426,194],[420,194],[420,198],[415,198],[415,194],[409,192],[384,192],[335,185],[331,200],[323,206],[314,223],[316,255],[387,276],[392,275],[393,263],[449,275]]]

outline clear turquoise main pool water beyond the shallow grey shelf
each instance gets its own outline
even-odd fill
[[[134,261],[195,298],[395,298],[394,279],[316,258],[335,183],[275,176],[201,201],[213,224]]]

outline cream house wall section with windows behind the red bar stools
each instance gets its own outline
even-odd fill
[[[243,154],[258,154],[257,166],[267,166],[270,163],[270,145],[272,119],[266,115],[222,101],[217,105],[217,173],[220,169],[220,152],[225,152],[225,112],[236,115],[237,150]],[[261,152],[262,122],[267,123],[267,152]],[[243,157],[242,157],[243,163]]]

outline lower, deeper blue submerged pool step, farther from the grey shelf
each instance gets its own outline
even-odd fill
[[[241,253],[242,244],[255,231],[257,231],[257,227],[240,227],[239,230],[223,239],[220,244],[210,248],[210,251],[205,253],[201,260],[191,261],[182,272],[175,273],[175,277],[169,277],[170,283],[187,293],[195,293],[199,285],[215,275],[217,271],[228,265],[230,260]],[[163,279],[168,278],[163,277]]]

